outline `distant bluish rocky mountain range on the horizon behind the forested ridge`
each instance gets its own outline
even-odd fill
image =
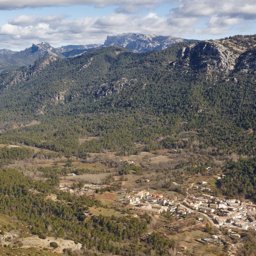
[[[32,45],[23,51],[13,52],[9,49],[0,49],[0,71],[20,68],[28,66],[33,61],[42,56],[58,56],[61,58],[72,57],[83,52],[100,49],[109,46],[121,46],[133,52],[143,53],[152,50],[166,49],[167,47],[177,42],[187,42],[183,38],[176,38],[173,36],[160,36],[160,35],[143,35],[136,33],[124,33],[115,36],[108,36],[103,45],[90,44],[90,45],[66,45],[54,48],[47,42],[42,42],[38,45]]]

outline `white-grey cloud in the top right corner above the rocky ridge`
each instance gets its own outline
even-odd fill
[[[169,24],[201,26],[195,33],[221,34],[229,26],[256,19],[255,0],[178,0]],[[184,20],[183,20],[184,19]]]

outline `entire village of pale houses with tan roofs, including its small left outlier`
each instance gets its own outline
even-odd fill
[[[147,182],[147,181],[145,181]],[[178,184],[173,182],[174,186]],[[206,185],[206,181],[198,181],[190,190],[199,191],[199,195],[188,193],[183,201],[178,200],[176,196],[165,197],[162,194],[150,193],[150,191],[142,190],[140,192],[132,191],[115,191],[118,195],[124,195],[118,202],[123,205],[131,205],[133,211],[162,215],[169,211],[171,214],[180,214],[186,216],[192,212],[197,212],[202,217],[198,217],[198,221],[202,221],[203,216],[219,228],[237,227],[243,230],[256,230],[256,204],[249,202],[241,202],[238,199],[222,199],[209,195],[210,188],[200,186]],[[110,188],[110,185],[94,185],[70,183],[67,186],[60,185],[57,187],[60,191],[66,191],[76,195],[93,194],[97,190]],[[189,191],[189,190],[188,190]],[[197,193],[198,194],[198,193]]]

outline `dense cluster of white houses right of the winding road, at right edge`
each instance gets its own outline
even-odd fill
[[[188,195],[183,204],[186,208],[207,214],[218,225],[256,230],[256,204],[238,199],[225,200],[207,194],[198,197]]]

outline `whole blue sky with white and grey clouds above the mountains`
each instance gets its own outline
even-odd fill
[[[0,0],[0,49],[103,43],[142,33],[217,39],[256,33],[256,0]]]

